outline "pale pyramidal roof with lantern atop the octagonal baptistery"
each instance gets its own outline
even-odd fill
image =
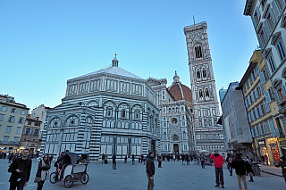
[[[118,67],[118,60],[116,58],[116,55],[115,55],[114,60],[112,62],[113,62],[113,66],[111,66],[111,67],[108,67],[108,68],[103,69],[103,70],[97,70],[97,71],[94,71],[94,72],[90,72],[90,73],[82,75],[80,77],[71,78],[71,79],[86,78],[86,77],[97,75],[97,74],[112,74],[112,75],[117,75],[117,76],[121,76],[121,77],[124,77],[124,78],[143,79],[143,78],[139,78],[138,76],[130,73],[127,70],[123,70],[122,68],[119,68]],[[116,62],[117,64],[114,64],[114,62]]]

